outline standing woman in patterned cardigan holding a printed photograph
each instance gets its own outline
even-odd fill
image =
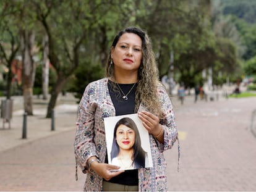
[[[106,163],[104,118],[133,113],[150,133],[153,167],[118,170]],[[176,140],[173,106],[159,81],[150,39],[139,28],[126,28],[114,38],[106,77],[90,83],[79,104],[74,149],[87,173],[84,190],[168,191],[163,151]]]

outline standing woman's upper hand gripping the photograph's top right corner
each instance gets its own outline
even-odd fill
[[[147,111],[140,111],[138,112],[140,120],[142,120],[142,123],[145,128],[147,128],[148,133],[151,133],[153,136],[156,136],[161,131],[161,125],[159,123],[159,118],[151,114]]]

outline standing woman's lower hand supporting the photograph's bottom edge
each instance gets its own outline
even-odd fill
[[[96,161],[91,164],[91,169],[93,169],[101,177],[105,178],[106,181],[124,172],[124,170],[119,170],[119,166],[99,163]]]

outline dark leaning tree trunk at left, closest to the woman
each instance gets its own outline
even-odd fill
[[[58,77],[58,80],[56,81],[56,84],[53,87],[53,91],[51,92],[51,98],[48,103],[46,118],[51,118],[52,111],[56,106],[58,95],[61,92],[64,85],[66,84],[66,82],[67,77]]]

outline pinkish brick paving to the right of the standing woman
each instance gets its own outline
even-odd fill
[[[182,133],[166,152],[170,191],[256,191],[256,138],[250,131],[256,98],[187,101],[176,110]]]

